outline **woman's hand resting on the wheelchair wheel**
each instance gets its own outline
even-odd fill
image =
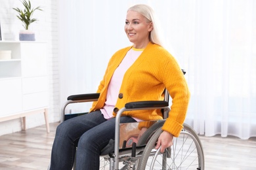
[[[156,149],[160,148],[160,152],[164,152],[165,148],[173,145],[173,135],[169,133],[168,131],[163,131],[158,137],[158,143],[156,144]]]

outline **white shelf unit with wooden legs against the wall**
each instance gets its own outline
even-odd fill
[[[33,41],[0,41],[0,50],[11,50],[11,59],[0,59],[0,123],[44,113],[49,132],[47,44]]]

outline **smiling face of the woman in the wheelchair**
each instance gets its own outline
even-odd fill
[[[146,18],[139,12],[128,10],[125,20],[125,33],[135,48],[145,48],[148,44],[149,33],[152,31],[152,23],[146,22]]]

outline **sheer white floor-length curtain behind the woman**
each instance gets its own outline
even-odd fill
[[[60,97],[95,92],[108,59],[131,45],[131,5],[150,5],[166,48],[186,69],[186,123],[202,135],[256,137],[256,1],[59,1]],[[89,107],[86,106],[86,107]]]

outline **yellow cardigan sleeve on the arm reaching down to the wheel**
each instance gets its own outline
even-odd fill
[[[190,92],[181,67],[179,67],[176,59],[172,56],[165,65],[163,84],[165,84],[165,87],[170,93],[172,104],[169,117],[165,121],[165,124],[163,124],[162,129],[178,137],[186,118]]]

